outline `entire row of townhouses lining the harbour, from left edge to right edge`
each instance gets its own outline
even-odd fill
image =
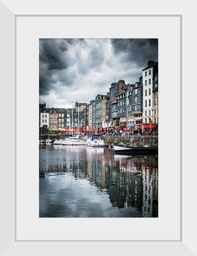
[[[44,103],[39,105],[39,110],[40,127],[52,129],[118,128],[125,125],[127,110],[128,126],[148,124],[150,119],[158,124],[158,62],[148,61],[138,82],[114,82],[106,95],[98,94],[89,104],[75,102],[74,107],[61,109],[46,108]]]

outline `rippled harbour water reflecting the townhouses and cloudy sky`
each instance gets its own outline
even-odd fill
[[[157,218],[158,154],[39,145],[40,218]]]

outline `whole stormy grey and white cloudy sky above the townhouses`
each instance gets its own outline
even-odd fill
[[[148,60],[158,61],[158,39],[40,39],[39,103],[71,108],[106,95],[110,84],[139,81]]]

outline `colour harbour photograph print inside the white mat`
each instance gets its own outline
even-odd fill
[[[39,39],[39,217],[158,218],[158,38]]]

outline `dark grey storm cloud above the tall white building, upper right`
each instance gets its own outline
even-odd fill
[[[137,67],[147,66],[148,60],[158,61],[157,38],[111,39],[114,54],[124,53],[122,61],[135,62]]]

